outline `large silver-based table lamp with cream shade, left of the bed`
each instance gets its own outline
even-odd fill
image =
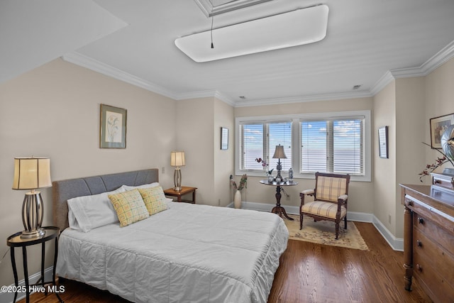
[[[13,189],[31,189],[27,192],[22,204],[22,222],[24,231],[21,238],[39,238],[45,231],[43,223],[43,198],[35,189],[51,187],[50,158],[27,157],[14,158]]]

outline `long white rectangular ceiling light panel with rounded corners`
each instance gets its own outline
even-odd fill
[[[195,62],[207,62],[314,43],[326,37],[327,27],[328,6],[320,4],[187,35],[175,45]],[[216,48],[209,47],[211,33]]]

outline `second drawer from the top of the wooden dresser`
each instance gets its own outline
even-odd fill
[[[420,214],[413,215],[414,228],[419,229],[426,234],[433,241],[443,246],[445,250],[454,252],[454,233],[448,233],[443,228],[439,228],[430,219],[426,219],[425,216]],[[414,238],[415,240],[416,238]],[[454,270],[453,270],[454,271]]]

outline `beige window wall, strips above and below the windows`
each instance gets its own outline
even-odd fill
[[[327,111],[358,111],[372,110],[372,98],[358,99],[343,99],[333,101],[316,101],[316,102],[301,102],[292,104],[270,105],[270,106],[248,106],[236,107],[235,116],[267,116],[281,114],[306,114],[306,113],[323,113]],[[239,176],[236,176],[237,181]],[[275,190],[271,187],[265,187],[259,183],[262,177],[249,177],[248,189],[243,191],[246,194],[248,202],[261,202],[267,204],[275,204]],[[299,192],[304,189],[314,188],[314,180],[297,179],[299,184],[294,187],[285,188],[290,198],[287,200],[284,196],[281,199],[281,204],[299,206],[301,200]],[[372,213],[373,199],[365,199],[372,197],[374,187],[372,182],[351,182],[350,196],[348,197],[348,210],[365,213]]]

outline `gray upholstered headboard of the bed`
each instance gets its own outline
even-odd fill
[[[121,187],[123,184],[137,186],[158,182],[158,173],[159,170],[157,168],[150,168],[148,170],[135,170],[133,172],[118,172],[109,175],[54,181],[52,182],[54,225],[59,227],[60,231],[63,231],[69,226],[68,199],[110,192]]]

